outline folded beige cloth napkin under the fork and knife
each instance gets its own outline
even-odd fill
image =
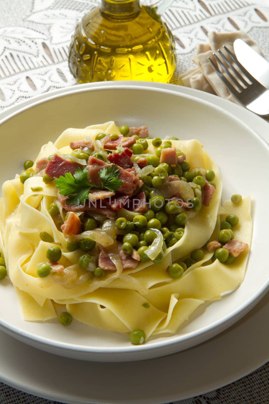
[[[219,97],[229,99],[230,101],[241,105],[237,99],[229,93],[229,90],[223,84],[207,58],[210,57],[213,61],[215,61],[213,52],[218,55],[217,51],[218,49],[223,48],[223,45],[226,45],[227,48],[234,53],[233,43],[238,38],[245,41],[260,55],[263,56],[263,53],[259,46],[257,46],[255,42],[253,42],[252,39],[243,31],[229,33],[209,32],[208,38],[209,43],[196,46],[196,56],[194,56],[192,60],[194,63],[196,63],[197,67],[194,67],[194,69],[182,74],[180,78],[183,84],[187,87],[192,87],[198,90],[206,91],[207,93],[219,95]],[[225,53],[225,50],[223,53]]]

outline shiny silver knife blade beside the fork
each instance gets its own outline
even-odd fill
[[[269,89],[269,62],[242,39],[234,41],[234,52],[241,65],[256,80]]]

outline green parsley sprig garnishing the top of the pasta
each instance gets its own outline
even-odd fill
[[[123,181],[119,180],[119,168],[116,164],[110,164],[103,167],[98,175],[102,185],[90,184],[87,178],[88,170],[86,168],[76,168],[74,176],[71,173],[65,173],[63,177],[55,179],[56,188],[59,189],[59,194],[68,196],[65,201],[68,205],[78,206],[85,199],[88,199],[89,191],[91,188],[108,189],[109,191],[116,191]]]

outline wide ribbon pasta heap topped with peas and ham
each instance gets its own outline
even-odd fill
[[[101,133],[104,134],[103,138],[99,136],[101,139],[95,140],[96,136]],[[112,141],[117,139],[118,143],[133,139],[131,136],[122,137],[114,122],[88,126],[85,129],[67,129],[54,144],[49,142],[42,146],[33,168],[28,170],[29,176],[24,180],[24,183],[21,181],[22,177],[16,175],[15,179],[8,180],[3,184],[2,198],[0,199],[0,249],[4,255],[8,276],[14,285],[25,321],[46,321],[56,318],[57,306],[60,306],[66,307],[66,311],[76,320],[104,330],[123,333],[143,330],[145,339],[148,339],[150,335],[174,334],[197,307],[205,301],[221,299],[226,293],[235,290],[244,279],[249,253],[246,246],[250,245],[252,234],[250,196],[244,198],[240,204],[225,202],[223,207],[220,206],[222,182],[219,168],[197,140],[179,141],[171,139],[171,145],[169,146],[169,143],[166,145],[166,149],[171,150],[166,151],[166,154],[163,153],[161,156],[170,154],[171,162],[176,156],[179,163],[164,163],[158,165],[160,169],[156,170],[156,166],[149,164],[153,160],[148,158],[155,156],[154,141],[146,139],[146,149],[143,149],[142,153],[139,154],[135,154],[135,151],[141,149],[140,144],[146,144],[143,141],[136,143],[139,145],[137,148],[122,147],[119,143],[116,150],[114,146],[111,148],[111,150],[115,150],[111,153],[111,151],[107,151],[109,147],[105,147],[111,142],[108,136],[110,134],[118,136],[111,139]],[[88,139],[86,146],[84,145],[85,139]],[[89,147],[91,139],[92,149]],[[106,143],[104,143],[104,139],[107,139]],[[79,146],[79,143],[76,142],[81,141],[84,141],[84,146],[82,145],[80,149],[78,147],[75,152],[74,149],[72,151],[70,142],[75,142],[74,144]],[[114,163],[113,160],[123,156],[126,149],[129,150],[129,152],[126,151],[129,160],[125,156],[124,161],[131,161],[132,168],[125,168],[124,171],[129,176],[133,176],[130,178],[136,182],[137,188],[133,190],[133,194],[124,194],[121,191],[119,198],[124,199],[124,203],[127,203],[127,200],[128,202],[131,201],[133,207],[124,205],[117,208],[115,207],[117,205],[116,199],[112,199],[112,202],[106,206],[106,211],[102,210],[100,213],[103,209],[102,202],[108,199],[106,195],[110,193],[113,198],[116,198],[120,187],[129,185],[127,180],[126,183],[120,181],[123,178],[119,174],[121,160],[115,160],[120,161],[120,164],[119,162]],[[79,153],[80,156],[76,157]],[[83,163],[83,153],[84,157],[85,153],[88,153],[89,160],[88,158],[85,160],[86,164],[88,160],[87,166]],[[79,200],[76,206],[68,205],[67,196],[61,196],[62,188],[58,187],[57,189],[56,187],[60,183],[57,178],[67,178],[65,174],[62,177],[55,175],[44,182],[44,178],[49,177],[46,174],[49,172],[48,168],[57,158],[64,159],[63,161],[71,167],[71,170],[80,167],[76,171],[80,176],[77,178],[82,178],[83,172],[86,173],[85,176],[87,177],[87,172],[84,170],[88,170],[87,179],[86,177],[81,179],[80,184],[83,183],[82,181],[84,184],[85,181],[88,184],[90,180],[95,178],[92,174],[93,166],[89,163],[90,160],[96,161],[93,159],[97,159],[100,167],[103,164],[103,168],[106,170],[106,172],[103,171],[103,174],[106,175],[108,174],[107,167],[113,167],[116,164],[117,189],[110,191],[108,185],[108,188],[102,188],[105,195],[102,195],[102,192],[97,192],[102,169],[98,168],[99,174],[96,174],[98,181],[96,180],[97,182],[94,183],[96,188],[89,188],[89,191],[86,188],[84,192],[90,192],[89,200],[93,200],[93,196],[95,198],[95,195],[98,195],[98,198],[101,198],[98,199],[99,207],[95,210],[91,210],[91,208],[83,210],[79,208]],[[79,158],[81,160],[78,160]],[[184,168],[182,162],[185,160],[189,163],[188,173],[192,174],[185,175],[186,171],[183,171],[182,175],[185,177],[180,179],[180,176],[173,173],[182,171],[180,167]],[[46,168],[42,168],[40,162],[44,162]],[[142,173],[143,165],[148,167],[144,171],[147,173],[146,176],[143,176]],[[41,167],[40,170],[39,167]],[[212,185],[207,181],[206,170],[212,170],[215,173],[215,184]],[[169,174],[168,177],[166,171]],[[65,173],[67,172],[69,171],[65,171]],[[156,174],[155,177],[159,175],[158,178],[161,180],[154,179],[154,174]],[[198,179],[196,184],[193,182],[194,179],[190,181],[188,176],[190,179],[199,177],[202,186],[198,185]],[[147,181],[145,177],[147,177]],[[74,179],[74,173],[72,178],[75,187],[79,180]],[[186,182],[186,178],[188,178],[188,182]],[[107,181],[105,177],[103,181]],[[151,181],[156,181],[162,185],[154,187]],[[120,183],[122,185],[119,185]],[[176,185],[171,185],[172,183]],[[102,186],[103,184],[104,182],[102,182]],[[83,187],[82,185],[79,186],[79,191],[82,192]],[[175,194],[171,194],[171,197],[174,198],[171,199],[173,200],[172,204],[169,202],[167,206],[163,205],[162,209],[151,210],[148,204],[154,196],[159,196],[165,200],[167,189],[170,192],[175,192],[177,187],[180,191],[176,195],[177,200],[181,199],[184,205],[178,207]],[[99,186],[99,188],[101,187]],[[206,189],[209,190],[209,195],[206,194]],[[126,191],[126,193],[128,192]],[[138,207],[133,202],[136,195],[139,195]],[[191,196],[191,198],[184,198],[184,195]],[[72,192],[70,191],[68,198],[70,199],[71,196]],[[205,201],[207,196],[209,196],[208,203]],[[142,200],[142,198],[144,199]],[[147,204],[143,208],[144,210],[141,208],[141,201],[144,206]],[[198,209],[194,209],[193,202],[200,204]],[[89,203],[87,200],[86,206]],[[56,206],[56,215],[52,215],[52,205]],[[112,205],[115,210],[112,209]],[[178,213],[175,213],[175,209]],[[152,228],[149,224],[145,225],[145,223],[151,223],[150,220],[153,220],[150,219],[151,213],[145,213],[149,211],[153,211],[155,220],[152,222]],[[158,215],[158,212],[162,212],[161,215]],[[180,213],[183,214],[183,218],[186,217],[186,222],[178,225],[177,229],[174,222],[175,215],[178,217]],[[115,217],[109,217],[106,214]],[[231,217],[238,216],[239,223],[233,225],[230,232],[231,236],[229,234],[227,236],[229,230],[225,230],[226,233],[223,237],[228,237],[231,242],[227,239],[226,244],[225,242],[219,243],[219,232],[221,228],[223,229],[221,223],[224,223],[225,218],[230,215]],[[147,217],[147,221],[141,218],[136,219],[138,216]],[[98,226],[88,229],[85,223],[88,219],[92,220],[93,217]],[[117,218],[121,218],[121,221],[118,221],[116,225]],[[161,229],[158,228],[156,220],[161,223]],[[135,238],[128,239],[125,237],[127,231],[124,225],[132,221],[136,224],[132,227],[133,230],[130,230],[130,234],[137,238],[136,245],[130,244]],[[178,221],[180,221],[180,217],[178,217]],[[122,228],[120,227],[121,223]],[[75,226],[78,226],[80,230],[75,231]],[[139,226],[141,227],[140,230]],[[148,227],[145,228],[145,226]],[[231,227],[229,223],[222,224],[222,226],[227,226],[224,229]],[[151,231],[150,234],[147,234],[148,238],[152,237],[151,246],[150,242],[143,239],[147,228]],[[42,238],[42,232],[46,235],[45,240],[44,237]],[[143,236],[140,237],[140,235]],[[208,246],[209,240],[215,240],[219,247],[218,250],[229,250],[229,265],[227,265],[228,261],[225,264],[225,261],[220,262],[219,259],[215,259],[215,250],[211,250]],[[244,245],[240,255],[233,252],[237,240],[240,246]],[[91,242],[91,249],[84,248],[81,250],[83,242]],[[123,246],[122,242],[128,246]],[[56,252],[58,247],[60,247],[59,259],[56,262],[48,259],[48,250],[51,249]],[[194,256],[192,252],[197,250],[201,257],[194,260],[191,258]],[[227,254],[225,251],[221,253]],[[82,255],[85,257],[81,258]],[[236,255],[238,256],[234,259],[233,257]],[[101,257],[104,257],[104,261],[108,262],[108,267],[104,266],[105,263]],[[219,257],[221,256],[219,255]],[[86,259],[88,261],[85,264]],[[188,263],[187,269],[183,265],[184,261]],[[48,276],[42,277],[42,275],[40,277],[40,273],[37,271],[40,263],[50,266],[51,271]],[[173,263],[178,264],[175,266],[176,270],[179,267],[181,269],[184,267],[184,273],[182,269],[183,274],[180,276],[173,275],[172,269],[168,270]],[[99,272],[96,271],[96,268]],[[225,303],[223,302],[223,304]]]

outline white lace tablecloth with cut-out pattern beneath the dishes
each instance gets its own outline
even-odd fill
[[[75,84],[67,55],[71,34],[94,0],[0,0],[0,110],[47,91]],[[245,31],[269,59],[269,1],[175,0],[163,16],[177,42],[179,74],[194,67],[197,43],[207,32]],[[206,395],[180,404],[266,404],[269,364]],[[1,404],[56,404],[0,383]]]

